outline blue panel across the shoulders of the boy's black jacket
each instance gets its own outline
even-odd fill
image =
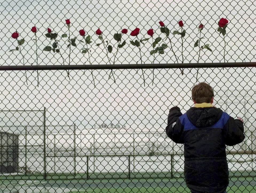
[[[229,114],[223,112],[220,119],[210,127],[204,127],[205,129],[210,128],[223,128],[226,124],[227,120],[229,119]],[[183,114],[179,117],[181,124],[184,126],[184,131],[191,130],[191,129],[198,129],[195,125],[193,125],[187,117],[187,113]]]

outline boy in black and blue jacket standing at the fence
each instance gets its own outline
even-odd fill
[[[192,193],[225,193],[229,184],[226,146],[241,143],[243,119],[230,117],[213,103],[210,85],[192,88],[195,106],[185,114],[179,107],[170,109],[166,134],[175,143],[184,143],[184,176]]]

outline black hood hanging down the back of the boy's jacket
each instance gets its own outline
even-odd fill
[[[192,107],[187,111],[190,122],[198,128],[214,125],[221,117],[223,111],[216,107]]]

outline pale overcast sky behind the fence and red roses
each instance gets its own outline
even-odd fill
[[[170,3],[171,2],[171,3]],[[220,18],[229,21],[225,36],[226,60],[229,62],[256,61],[255,60],[255,1],[134,1],[134,0],[92,0],[92,1],[4,1],[0,3],[0,45],[1,65],[23,65],[21,54],[15,49],[17,41],[11,38],[16,30],[21,38],[25,38],[22,45],[22,54],[25,56],[25,65],[36,65],[36,45],[32,40],[35,38],[31,27],[38,28],[38,64],[39,65],[61,65],[63,60],[59,54],[43,52],[45,46],[51,46],[44,34],[49,27],[58,32],[60,40],[60,52],[68,65],[69,49],[67,38],[60,38],[68,33],[65,19],[70,19],[71,38],[79,35],[79,30],[84,29],[86,36],[89,34],[92,43],[89,46],[92,64],[109,64],[106,51],[100,43],[95,31],[100,28],[103,38],[113,45],[111,64],[113,64],[114,53],[117,43],[113,34],[127,28],[128,33],[122,36],[122,41],[135,40],[129,34],[136,27],[140,28],[139,39],[149,38],[147,30],[153,29],[153,38],[161,37],[162,43],[166,43],[165,54],[156,54],[154,63],[175,63],[175,57],[170,48],[170,42],[165,40],[161,34],[159,21],[170,29],[170,31],[181,30],[178,21],[183,20],[186,36],[184,37],[184,63],[196,63],[198,60],[198,47],[194,48],[195,41],[199,38],[198,26],[204,24],[201,37],[202,44],[210,44],[212,52],[201,51],[200,63],[223,62],[223,36],[216,31]],[[178,35],[170,34],[174,51],[179,58],[181,56],[181,39]],[[81,53],[85,46],[78,41],[77,47],[71,47],[70,55],[72,65],[88,65],[88,55]],[[141,48],[142,62],[152,63],[153,56],[149,55],[152,50],[152,39],[145,42]],[[136,64],[139,57],[139,49],[130,43],[119,49],[116,64]],[[140,61],[139,61],[140,63]],[[210,66],[209,66],[210,67]],[[152,85],[152,69],[144,69],[145,87],[143,85],[142,70],[115,70],[116,83],[113,77],[108,80],[110,71],[94,70],[96,77],[93,86],[90,71],[70,71],[71,80],[67,78],[66,71],[39,71],[40,85],[37,87],[37,73],[27,71],[29,77],[26,84],[24,72],[5,71],[0,72],[0,108],[2,110],[24,110],[41,109],[46,107],[46,125],[77,125],[79,130],[90,129],[96,123],[103,122],[109,125],[127,125],[126,129],[159,129],[164,130],[167,123],[169,109],[178,105],[185,113],[192,105],[191,88],[197,82],[206,81],[215,91],[215,104],[217,107],[227,110],[231,116],[245,116],[251,119],[247,124],[255,127],[255,68],[207,68],[199,69],[199,80],[196,81],[197,69],[184,69],[184,75],[180,69],[155,69],[154,83]],[[230,89],[233,91],[225,92]],[[240,93],[239,93],[240,92]],[[222,96],[221,98],[218,96]],[[239,98],[240,97],[240,98]],[[229,99],[227,99],[229,98]],[[229,101],[228,101],[229,100]],[[230,108],[226,109],[226,103]],[[233,102],[232,102],[233,101]],[[247,104],[246,108],[244,103]],[[2,114],[6,114],[2,112]],[[1,125],[41,125],[43,114],[40,112],[29,113],[29,117],[10,113],[2,115]],[[22,118],[25,117],[25,118]],[[31,118],[30,118],[31,117]]]

